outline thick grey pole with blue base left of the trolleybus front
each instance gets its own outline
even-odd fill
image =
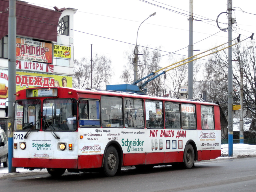
[[[16,1],[9,0],[8,17],[8,87],[9,102],[15,102],[16,93]],[[8,112],[8,172],[16,172],[16,167],[12,166],[13,158],[13,130],[14,130],[14,105],[9,103]]]

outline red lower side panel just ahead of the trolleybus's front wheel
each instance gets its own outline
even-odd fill
[[[103,155],[78,155],[78,169],[101,167],[102,158]]]

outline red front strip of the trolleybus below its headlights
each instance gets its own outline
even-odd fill
[[[12,166],[77,169],[77,159],[12,158]]]

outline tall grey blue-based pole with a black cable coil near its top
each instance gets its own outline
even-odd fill
[[[232,0],[228,0],[228,45],[232,45]],[[233,156],[233,71],[232,47],[228,48],[228,155]]]

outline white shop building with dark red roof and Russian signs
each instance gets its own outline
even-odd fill
[[[8,99],[9,0],[0,0],[0,126]],[[77,9],[48,9],[16,1],[16,91],[73,83],[73,15]],[[1,119],[2,118],[2,119]]]

